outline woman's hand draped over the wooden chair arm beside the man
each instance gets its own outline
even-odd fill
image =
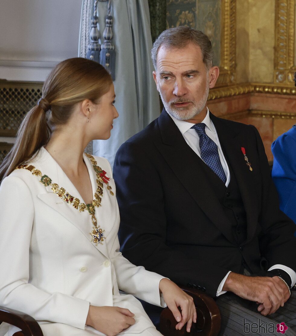
[[[196,309],[193,298],[180,289],[175,283],[169,279],[161,279],[159,290],[162,293],[165,303],[172,311],[178,324],[176,329],[182,329],[187,322],[187,332],[190,332],[192,321],[196,323]],[[182,315],[178,307],[181,308]]]

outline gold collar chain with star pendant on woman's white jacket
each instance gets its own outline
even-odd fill
[[[66,203],[73,206],[73,208],[79,210],[79,212],[84,212],[85,209],[87,209],[88,213],[92,216],[92,223],[93,223],[93,230],[90,232],[90,235],[92,236],[91,242],[98,245],[98,243],[103,244],[104,239],[106,237],[104,236],[104,231],[100,228],[100,225],[97,223],[97,218],[95,216],[95,208],[98,208],[101,206],[101,200],[103,197],[103,183],[107,185],[107,190],[109,193],[113,196],[112,187],[109,185],[109,177],[106,176],[106,172],[102,170],[101,167],[98,166],[97,161],[94,159],[94,157],[88,153],[85,153],[85,155],[90,159],[93,169],[96,172],[96,182],[97,182],[97,190],[95,193],[95,198],[92,200],[91,203],[85,204],[80,203],[80,200],[78,198],[75,198],[71,196],[64,188],[60,188],[57,183],[53,183],[52,179],[48,177],[47,175],[43,175],[40,170],[36,169],[34,166],[29,164],[21,164],[15,169],[26,169],[30,171],[33,175],[39,176],[40,182],[44,184],[45,186],[51,185],[51,189],[54,194],[59,196],[62,200],[64,200]]]

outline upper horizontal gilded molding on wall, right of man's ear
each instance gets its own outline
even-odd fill
[[[291,85],[245,83],[210,89],[208,100],[238,96],[246,93],[270,93],[295,95],[296,88]]]

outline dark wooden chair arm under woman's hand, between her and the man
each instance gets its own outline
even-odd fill
[[[217,336],[221,327],[221,315],[216,302],[201,290],[185,286],[180,288],[193,297],[197,321],[192,324],[190,333],[186,331],[186,325],[181,330],[176,330],[177,322],[172,312],[165,308],[160,315],[160,332],[164,336]]]

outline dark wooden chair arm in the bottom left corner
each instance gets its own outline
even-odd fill
[[[36,320],[18,310],[0,306],[0,322],[6,322],[22,330],[14,333],[13,336],[43,336]]]

